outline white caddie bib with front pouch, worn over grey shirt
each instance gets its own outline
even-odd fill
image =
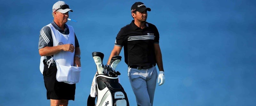
[[[72,26],[68,25],[68,35],[60,33],[54,28],[54,26],[52,26],[52,24],[48,24],[46,26],[49,26],[51,28],[53,46],[64,44],[73,44],[73,46],[75,46],[75,33]],[[74,67],[74,55],[75,52],[71,53],[69,51],[61,51],[57,54],[54,54],[53,57],[47,61],[47,65],[50,66],[52,61],[55,60],[57,66],[57,81],[65,82],[68,84],[74,84],[79,82],[81,67]],[[44,57],[41,57],[40,71],[43,74],[43,71],[41,70],[44,69],[43,65],[41,66],[41,64],[43,63],[42,58]]]

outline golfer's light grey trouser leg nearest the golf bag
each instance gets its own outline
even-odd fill
[[[135,68],[128,69],[129,80],[138,106],[150,106],[145,75],[146,71],[144,70],[138,70]]]

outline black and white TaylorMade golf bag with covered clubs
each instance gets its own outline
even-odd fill
[[[129,106],[124,88],[118,81],[120,73],[115,71],[117,64],[121,61],[121,56],[113,56],[109,65],[103,65],[104,54],[93,52],[92,57],[97,67],[96,74],[96,97],[89,95],[87,106]]]

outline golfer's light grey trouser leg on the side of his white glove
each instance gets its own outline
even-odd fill
[[[147,78],[147,88],[148,88],[148,96],[150,99],[151,106],[153,106],[153,101],[154,101],[156,79],[157,79],[156,67],[149,68],[148,78]]]

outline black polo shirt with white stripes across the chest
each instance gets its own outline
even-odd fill
[[[154,43],[159,43],[155,25],[145,22],[141,29],[134,24],[124,26],[116,36],[115,46],[124,46],[124,61],[128,66],[156,65]]]

